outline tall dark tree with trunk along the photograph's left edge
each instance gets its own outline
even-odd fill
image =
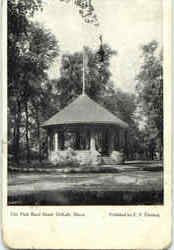
[[[14,156],[18,162],[20,123],[21,123],[21,48],[27,46],[28,17],[41,8],[41,0],[8,0],[8,100],[9,105],[13,102],[14,117]],[[11,112],[10,112],[11,113]],[[8,116],[9,120],[10,115]]]

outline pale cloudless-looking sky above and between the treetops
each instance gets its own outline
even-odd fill
[[[60,56],[49,70],[50,78],[59,77],[60,58],[65,52],[82,50],[83,45],[103,43],[117,51],[110,70],[116,88],[135,91],[135,77],[141,65],[141,46],[156,40],[162,45],[162,0],[92,0],[99,27],[84,24],[71,2],[44,0],[43,11],[34,21],[48,28],[59,41]]]

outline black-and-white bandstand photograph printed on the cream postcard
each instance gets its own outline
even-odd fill
[[[8,0],[8,206],[164,205],[163,0]]]

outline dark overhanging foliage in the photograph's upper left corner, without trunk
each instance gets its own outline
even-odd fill
[[[21,56],[27,50],[28,17],[41,8],[41,0],[8,0],[8,80],[19,80]],[[17,83],[16,83],[17,84]]]

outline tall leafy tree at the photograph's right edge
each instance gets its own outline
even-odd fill
[[[146,117],[153,158],[154,151],[160,148],[162,155],[163,148],[163,56],[156,41],[142,47],[142,58],[137,75],[138,104]]]

